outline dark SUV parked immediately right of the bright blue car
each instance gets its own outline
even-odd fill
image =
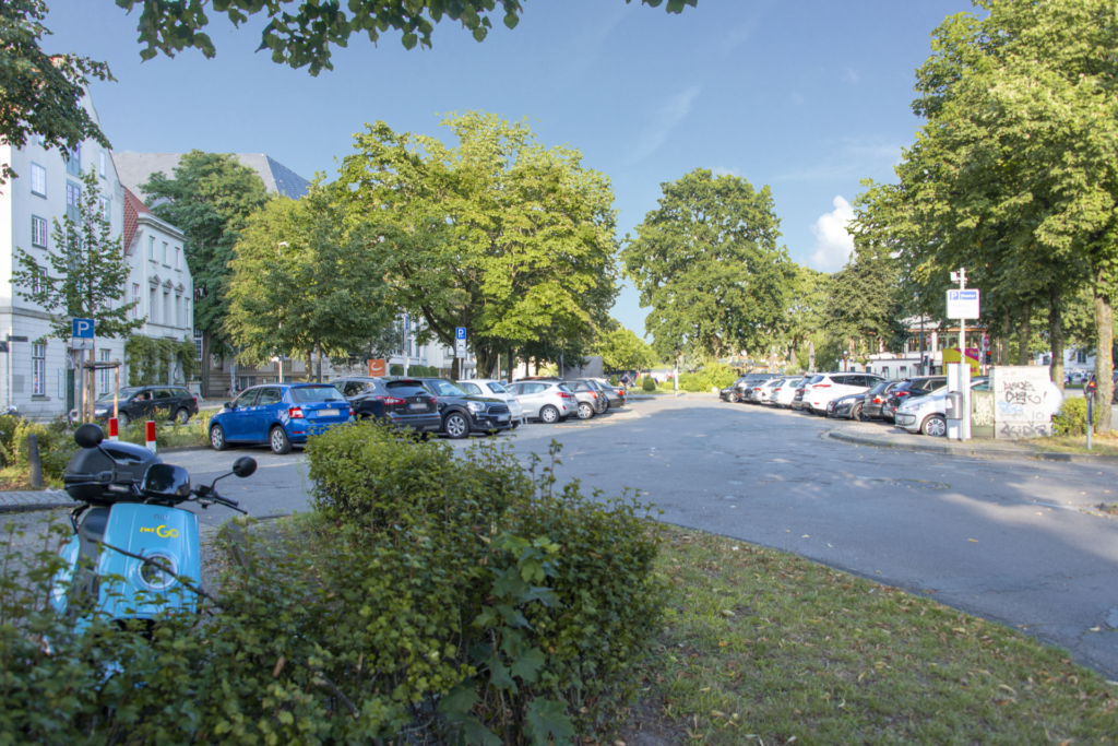
[[[349,399],[358,419],[386,419],[400,429],[410,427],[418,435],[443,429],[438,400],[418,380],[352,376],[330,384]]]

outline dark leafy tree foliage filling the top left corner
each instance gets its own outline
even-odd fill
[[[93,139],[108,140],[82,106],[89,78],[113,81],[105,63],[77,55],[49,55],[41,44],[50,31],[42,25],[42,0],[0,2],[0,143],[22,148],[41,135],[59,151]],[[0,186],[18,176],[0,166]]]

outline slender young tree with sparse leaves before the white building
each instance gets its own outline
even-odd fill
[[[98,337],[126,337],[145,321],[130,318],[139,300],[123,302],[131,264],[120,236],[112,237],[96,174],[89,171],[82,183],[78,220],[68,215],[61,223],[55,219],[45,265],[16,248],[19,270],[12,274],[12,286],[17,295],[50,314],[55,339],[70,339],[75,318],[93,319]]]

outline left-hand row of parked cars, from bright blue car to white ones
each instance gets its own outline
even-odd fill
[[[625,390],[597,378],[531,378],[508,384],[484,378],[455,383],[349,376],[329,384],[267,384],[246,389],[210,418],[209,442],[217,451],[267,444],[283,454],[306,443],[310,435],[368,418],[423,438],[446,435],[457,440],[471,433],[512,429],[533,419],[548,424],[571,416],[589,419],[623,406]]]

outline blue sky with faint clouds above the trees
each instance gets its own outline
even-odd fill
[[[115,150],[267,153],[332,178],[353,134],[383,120],[446,136],[439,113],[528,116],[547,145],[582,151],[613,179],[618,237],[656,207],[660,185],[695,168],[773,189],[783,243],[816,268],[842,266],[859,180],[892,179],[919,121],[909,104],[929,34],[969,0],[699,0],[680,16],[624,0],[525,0],[489,38],[444,21],[433,49],[389,31],[334,54],[311,77],[255,54],[265,21],[211,16],[215,59],[141,63],[131,16],[112,0],[48,0],[47,51],[108,62],[93,86]],[[343,3],[344,7],[344,3]],[[623,290],[614,317],[638,333],[647,311]]]

